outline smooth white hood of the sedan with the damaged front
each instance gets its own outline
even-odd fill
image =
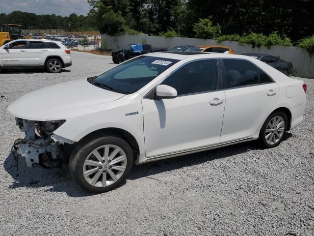
[[[80,79],[30,92],[11,103],[7,111],[14,117],[44,121],[84,107],[112,102],[124,95]]]

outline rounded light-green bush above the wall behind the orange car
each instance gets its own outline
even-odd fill
[[[212,25],[211,17],[206,19],[199,19],[198,23],[193,25],[193,31],[196,33],[196,38],[215,38],[221,34],[220,26]]]

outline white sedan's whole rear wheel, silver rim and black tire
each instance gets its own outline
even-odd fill
[[[288,118],[283,112],[271,114],[260,131],[259,143],[262,148],[277,147],[283,140],[288,128]]]

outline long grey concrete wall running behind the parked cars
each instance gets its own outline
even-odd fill
[[[180,45],[217,45],[213,39],[199,38],[181,38],[172,37],[164,38],[159,36],[149,36],[148,34],[137,35],[121,35],[112,37],[106,34],[102,35],[102,46],[104,49],[121,49],[128,44],[148,43],[153,47],[173,48]],[[219,45],[231,47],[235,54],[242,53],[265,53],[273,56],[280,56],[286,61],[291,61],[294,68],[294,75],[306,78],[314,78],[314,57],[310,57],[308,52],[298,47],[272,46],[270,49],[266,47],[252,48],[251,45],[241,46],[235,41],[224,41]]]

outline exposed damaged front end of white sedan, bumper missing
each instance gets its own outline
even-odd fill
[[[28,167],[43,167],[45,169],[59,167],[63,160],[65,144],[74,141],[53,134],[65,120],[35,121],[15,118],[16,125],[25,138],[17,139],[11,152],[14,156],[14,166],[18,168],[18,158],[24,157]]]

